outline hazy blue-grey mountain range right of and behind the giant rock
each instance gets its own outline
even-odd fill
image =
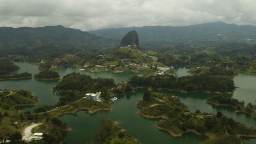
[[[224,22],[181,27],[143,26],[107,28],[89,32],[99,37],[120,40],[123,35],[133,29],[137,31],[139,43],[141,44],[255,43],[256,41],[256,26],[238,26]]]

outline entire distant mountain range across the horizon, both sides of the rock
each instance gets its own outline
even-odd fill
[[[117,48],[124,35],[135,29],[140,44],[190,44],[190,43],[254,43],[256,26],[237,26],[224,22],[171,27],[144,26],[107,28],[83,32],[63,26],[46,27],[0,27],[0,50],[19,47],[52,45],[77,49],[100,50],[103,47]]]

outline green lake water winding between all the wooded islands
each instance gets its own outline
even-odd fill
[[[37,74],[38,68],[34,64],[28,63],[15,63],[21,69],[18,73],[27,71],[32,75]],[[176,68],[174,71],[179,76],[189,75],[187,68]],[[58,71],[60,76],[63,77],[72,72],[79,72],[82,74],[90,75],[93,78],[113,78],[115,83],[122,80],[127,80],[133,75],[138,75],[131,71],[123,73],[98,72],[91,73],[89,71],[78,70],[75,67],[62,68]],[[22,80],[5,80],[0,81],[0,89],[26,89],[36,95],[40,101],[37,106],[33,107],[21,107],[22,110],[33,110],[35,107],[43,105],[55,105],[61,95],[55,95],[53,93],[53,87],[55,87],[58,80],[51,81],[38,81],[32,79]],[[245,73],[239,73],[234,77],[237,90],[234,94],[229,94],[228,97],[233,97],[238,100],[244,100],[245,103],[251,102],[255,104],[256,100],[256,75],[250,75]],[[138,89],[135,93],[129,93],[125,95],[118,95],[118,100],[112,104],[113,111],[98,111],[93,114],[89,114],[87,111],[79,111],[72,115],[63,115],[60,119],[66,122],[68,127],[73,131],[69,131],[66,136],[67,143],[86,143],[93,139],[96,132],[100,130],[101,118],[110,118],[115,122],[119,122],[121,128],[127,130],[127,134],[132,135],[139,140],[140,143],[200,143],[206,139],[204,136],[197,136],[193,133],[188,133],[182,137],[172,137],[166,131],[158,130],[154,127],[154,124],[161,121],[160,119],[148,119],[138,115],[136,112],[136,104],[143,97],[145,89]],[[217,107],[211,104],[205,103],[207,97],[211,97],[214,94],[206,93],[179,93],[175,91],[158,91],[163,93],[171,93],[181,98],[181,101],[189,106],[189,110],[194,112],[199,109],[201,112],[217,113],[222,112],[228,117],[234,118],[236,121],[245,124],[248,127],[256,128],[256,118],[252,118],[244,113],[235,113],[234,109],[229,107]],[[256,139],[246,139],[246,143],[256,143]]]

